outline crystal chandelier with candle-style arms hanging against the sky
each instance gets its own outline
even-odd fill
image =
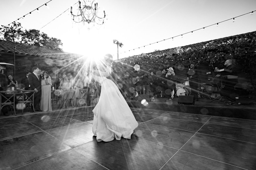
[[[104,24],[104,19],[106,18],[105,11],[101,11],[98,7],[98,3],[95,1],[78,1],[77,9],[70,8],[71,17],[76,23],[83,23],[83,25],[88,25],[88,30],[95,26]]]

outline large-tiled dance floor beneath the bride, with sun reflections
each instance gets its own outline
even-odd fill
[[[132,138],[97,142],[92,109],[0,119],[0,169],[256,169],[256,121],[131,108]]]

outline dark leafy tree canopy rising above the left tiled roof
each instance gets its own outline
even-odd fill
[[[11,26],[2,25],[0,30],[0,39],[29,44],[37,47],[46,47],[62,51],[62,42],[58,38],[49,37],[46,33],[36,29],[23,30],[19,22],[13,23]]]

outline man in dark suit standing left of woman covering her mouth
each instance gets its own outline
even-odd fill
[[[39,108],[40,99],[41,99],[41,80],[39,78],[40,75],[37,74],[39,69],[38,67],[33,67],[32,70],[33,70],[33,73],[29,74],[28,82],[30,84],[30,90],[36,91],[34,95],[34,108],[36,111],[41,112],[42,110],[40,110]]]

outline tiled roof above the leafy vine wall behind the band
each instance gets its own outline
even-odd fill
[[[191,47],[191,49],[202,49],[205,44],[207,44],[211,41],[214,41],[216,43],[222,43],[222,42],[227,42],[228,40],[235,40],[236,38],[247,38],[248,41],[256,40],[256,31],[239,34],[239,35],[233,35],[233,36],[224,37],[224,38],[219,38],[219,39],[215,39],[215,40],[209,40],[209,41],[196,43],[196,44],[185,45],[185,46],[182,46],[182,48],[186,49],[186,48]],[[161,50],[161,51],[154,51],[154,52],[147,53],[147,54],[148,55],[150,55],[150,54],[152,54],[152,55],[162,55],[162,54],[173,55],[173,54],[177,53],[176,48],[177,47],[169,48],[169,49],[165,49],[165,50]]]

